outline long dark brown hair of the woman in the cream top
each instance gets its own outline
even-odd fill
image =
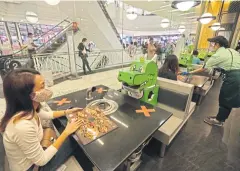
[[[8,121],[19,112],[21,117],[32,114],[33,104],[30,97],[34,88],[35,75],[40,73],[33,69],[16,69],[9,72],[3,80],[3,93],[6,111],[0,122],[0,131],[4,132]]]

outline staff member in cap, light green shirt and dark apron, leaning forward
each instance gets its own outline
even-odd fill
[[[223,36],[208,39],[216,51],[206,65],[192,73],[203,71],[204,68],[221,68],[224,74],[223,84],[219,94],[219,111],[217,116],[210,116],[204,122],[210,125],[223,126],[232,108],[240,107],[240,55],[230,49],[228,41]]]

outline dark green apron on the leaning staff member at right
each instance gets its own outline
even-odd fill
[[[230,108],[240,107],[240,69],[224,72],[219,103]]]

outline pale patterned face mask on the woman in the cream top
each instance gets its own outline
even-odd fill
[[[31,94],[31,98],[33,101],[41,103],[48,101],[53,95],[53,92],[48,89],[42,89],[40,91],[36,91],[35,93]]]

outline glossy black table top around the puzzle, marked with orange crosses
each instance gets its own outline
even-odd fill
[[[102,85],[98,87],[108,90],[107,87]],[[109,94],[111,95],[109,96]],[[94,92],[93,96],[95,100],[103,97],[112,99],[119,105],[118,110],[109,115],[109,118],[118,125],[117,129],[85,146],[79,143],[93,164],[102,171],[116,169],[172,115],[158,107],[143,104],[139,100],[123,95],[116,90],[109,89],[108,92],[102,94]],[[71,106],[85,107],[85,97],[86,90],[81,90],[52,99],[48,104],[52,110],[67,109]],[[71,100],[71,104],[58,107],[53,103],[53,101],[61,100],[62,98]],[[151,113],[151,117],[137,114],[135,110],[141,109],[141,105],[145,105],[150,109],[154,108],[155,112]],[[59,120],[63,126],[66,126],[66,117],[59,118]]]

